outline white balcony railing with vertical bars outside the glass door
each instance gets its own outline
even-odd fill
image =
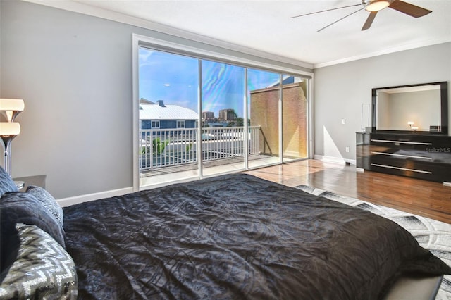
[[[259,154],[260,126],[248,127],[248,154]],[[244,155],[244,127],[204,127],[202,159]],[[197,163],[197,129],[140,130],[140,170]]]

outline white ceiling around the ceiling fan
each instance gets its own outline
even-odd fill
[[[385,8],[376,15],[369,30],[361,31],[369,15],[362,10],[316,32],[363,6],[290,17],[360,4],[361,0],[75,0],[78,4],[164,25],[160,29],[167,26],[169,31],[183,30],[196,34],[199,39],[218,39],[226,44],[309,63],[316,68],[451,42],[451,0],[406,1],[433,12],[412,18]]]

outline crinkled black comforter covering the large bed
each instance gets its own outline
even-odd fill
[[[451,273],[390,220],[251,175],[99,199],[62,215],[76,269],[68,298],[381,299],[401,276]]]

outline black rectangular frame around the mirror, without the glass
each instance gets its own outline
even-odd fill
[[[441,128],[440,132],[431,132],[431,131],[421,131],[421,132],[412,132],[411,130],[376,130],[376,111],[377,111],[377,92],[381,89],[396,89],[400,87],[421,87],[424,85],[440,85],[440,118],[441,118]],[[377,87],[371,89],[371,132],[385,132],[385,133],[404,133],[410,135],[448,135],[448,83],[446,81],[443,82],[428,82],[428,83],[420,83],[416,85],[398,85],[395,87]]]

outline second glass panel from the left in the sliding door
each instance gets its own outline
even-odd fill
[[[245,68],[202,60],[202,174],[245,168]]]

